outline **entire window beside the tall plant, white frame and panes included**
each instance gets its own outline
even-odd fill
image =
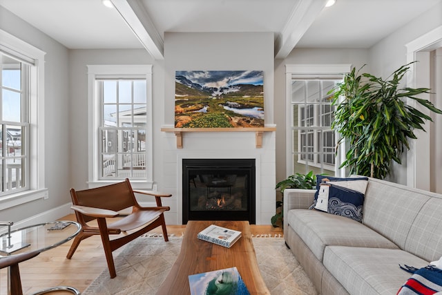
[[[327,93],[347,67],[287,65],[287,175],[338,173],[336,133],[330,127],[334,106]]]

